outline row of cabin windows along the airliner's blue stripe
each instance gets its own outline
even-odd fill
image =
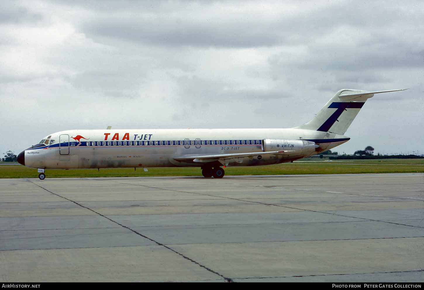
[[[260,140],[179,140],[179,141],[97,141],[86,142],[87,146],[146,146],[146,145],[260,145]]]

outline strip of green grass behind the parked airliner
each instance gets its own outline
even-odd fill
[[[424,172],[423,159],[370,159],[349,161],[313,161],[254,167],[226,167],[225,175],[346,174],[346,173],[416,173]],[[315,159],[316,160],[316,159]],[[58,177],[137,177],[201,176],[198,167],[46,170],[47,178]],[[22,165],[0,165],[0,178],[36,178],[36,169]]]

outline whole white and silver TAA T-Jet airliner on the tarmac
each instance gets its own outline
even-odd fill
[[[201,167],[222,178],[221,166],[270,165],[312,156],[350,138],[344,136],[368,98],[392,91],[342,89],[308,123],[288,129],[69,130],[44,137],[18,154],[38,169]]]

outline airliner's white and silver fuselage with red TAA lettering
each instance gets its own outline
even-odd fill
[[[26,149],[20,153],[20,163],[43,169],[203,167],[208,162],[185,162],[174,158],[264,152],[264,139],[308,140],[319,147],[288,155],[264,154],[227,158],[226,164],[221,164],[254,166],[289,162],[349,140],[340,134],[293,128],[70,130],[48,135],[39,144]],[[290,150],[289,143],[282,144],[281,146],[287,148],[281,150]]]

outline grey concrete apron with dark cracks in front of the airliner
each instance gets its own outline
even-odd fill
[[[424,282],[424,174],[0,179],[2,282]]]

